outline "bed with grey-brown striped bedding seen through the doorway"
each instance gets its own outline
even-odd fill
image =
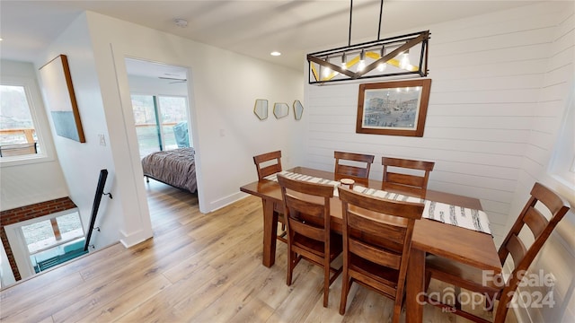
[[[198,190],[198,183],[194,153],[193,148],[187,147],[148,154],[142,158],[146,181],[155,179],[174,188],[195,193]]]

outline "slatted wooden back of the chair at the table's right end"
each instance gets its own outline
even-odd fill
[[[546,209],[544,213],[551,214],[549,219],[540,211],[542,209]],[[569,209],[569,202],[562,196],[541,183],[535,183],[531,189],[531,197],[499,249],[501,266],[511,256],[515,269],[500,294],[500,304],[495,315],[496,318],[505,318],[507,316],[509,306],[506,305],[511,301],[518,284],[521,283],[523,275],[520,274],[531,266],[537,254],[543,248],[545,241]],[[524,228],[527,228],[533,234],[534,242],[529,247],[526,247],[526,241],[522,240],[519,235],[519,232]]]

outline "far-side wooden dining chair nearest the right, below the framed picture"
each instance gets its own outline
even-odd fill
[[[384,190],[399,190],[411,196],[425,198],[429,172],[433,170],[435,162],[382,157],[381,164],[384,165]]]

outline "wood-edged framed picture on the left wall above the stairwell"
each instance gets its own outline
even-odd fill
[[[56,134],[85,143],[66,55],[59,55],[40,67],[40,77]]]

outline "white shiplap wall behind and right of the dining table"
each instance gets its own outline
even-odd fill
[[[573,20],[572,2],[546,2],[412,30],[431,32],[421,138],[356,134],[358,83],[306,85],[305,164],[332,170],[334,150],[374,153],[376,164],[384,155],[434,161],[429,188],[479,197],[499,245],[535,180],[575,199],[546,175],[575,74]],[[371,177],[381,179],[381,166],[372,166]],[[553,268],[558,304],[523,310],[520,319],[528,312],[534,321],[575,320],[569,217],[533,268]]]

